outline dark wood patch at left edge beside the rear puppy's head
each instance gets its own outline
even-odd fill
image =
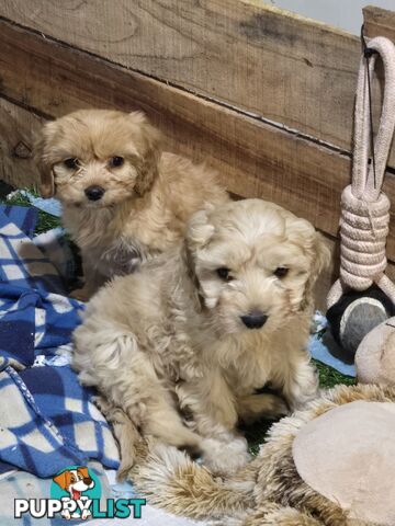
[[[0,179],[7,183],[16,187],[38,183],[32,150],[42,122],[37,115],[0,99]]]

